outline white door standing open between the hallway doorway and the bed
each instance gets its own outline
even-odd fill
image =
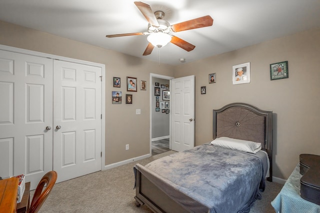
[[[194,75],[171,80],[171,149],[194,147]]]

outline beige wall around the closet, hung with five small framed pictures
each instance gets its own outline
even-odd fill
[[[84,44],[45,32],[0,21],[0,44],[48,54],[105,64],[105,165],[149,154],[149,79],[150,72],[173,76],[173,66],[152,62],[112,50]],[[141,53],[142,54],[142,53]],[[152,69],[151,69],[152,68]],[[147,90],[127,92],[126,76],[147,81]],[[114,88],[113,77],[121,78]],[[111,91],[133,94],[132,104],[111,104]],[[135,115],[141,109],[141,115]],[[125,151],[125,144],[130,149]]]

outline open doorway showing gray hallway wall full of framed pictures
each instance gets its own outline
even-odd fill
[[[150,153],[170,150],[170,83],[173,77],[150,74]]]

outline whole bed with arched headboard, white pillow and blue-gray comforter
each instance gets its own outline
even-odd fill
[[[137,207],[156,213],[249,212],[261,199],[265,179],[272,181],[272,112],[244,103],[213,110],[212,142],[133,170]]]

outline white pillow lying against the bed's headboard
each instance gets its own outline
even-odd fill
[[[210,144],[227,148],[227,149],[248,152],[248,153],[257,153],[259,150],[261,150],[260,143],[228,138],[228,137],[216,138]]]

